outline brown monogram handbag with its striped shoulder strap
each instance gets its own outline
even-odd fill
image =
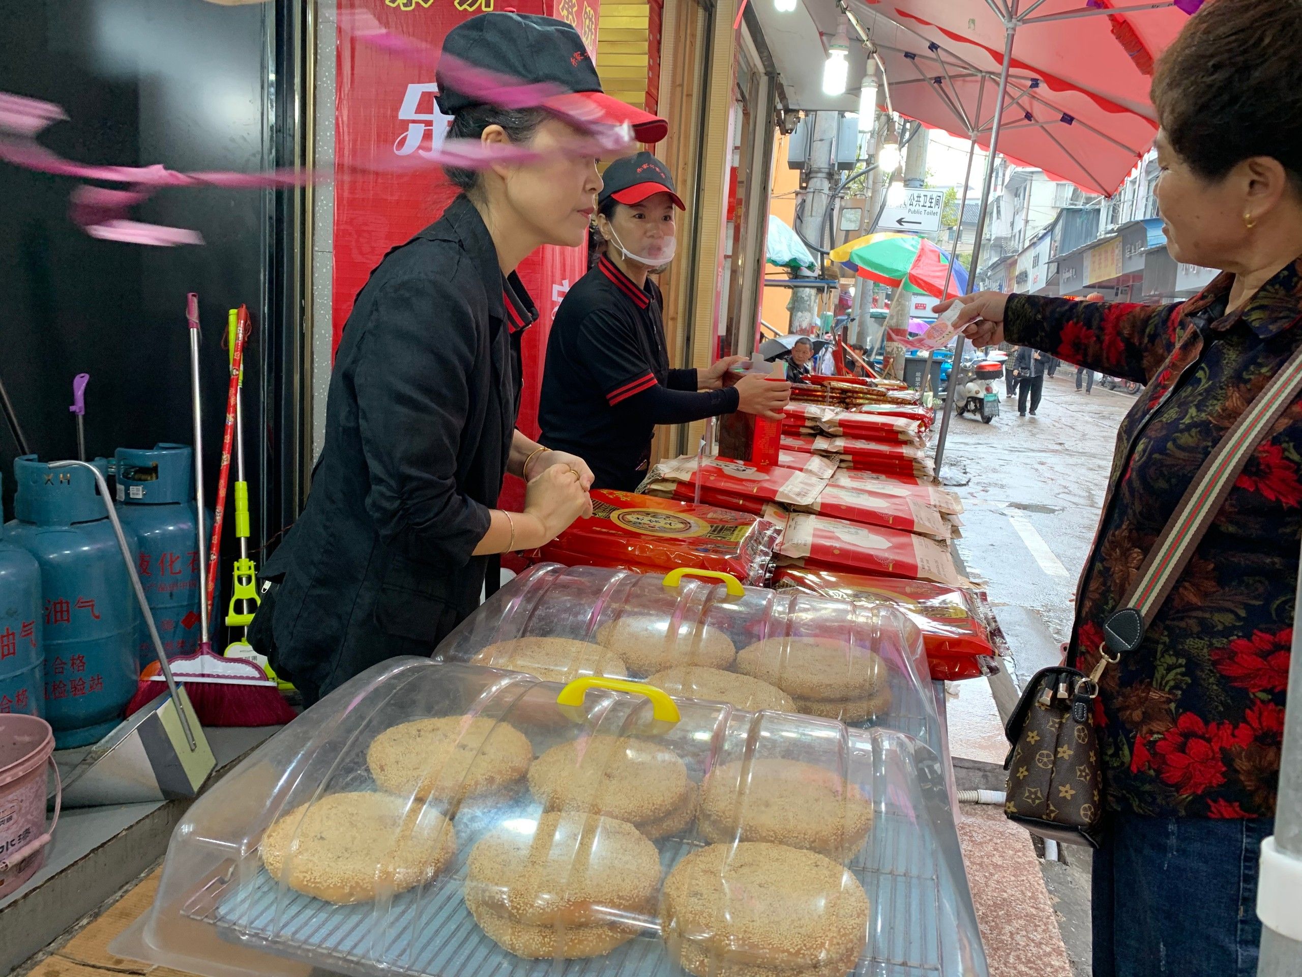
[[[1094,728],[1094,698],[1104,668],[1143,642],[1144,629],[1193,556],[1243,465],[1302,389],[1302,349],[1271,379],[1198,470],[1139,568],[1130,591],[1104,624],[1100,658],[1086,675],[1066,666],[1042,668],[1022,692],[1004,732],[1004,810],[1043,838],[1098,848],[1104,823],[1103,766]]]

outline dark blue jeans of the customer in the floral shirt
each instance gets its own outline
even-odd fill
[[[1112,814],[1094,853],[1094,977],[1256,977],[1273,821]]]

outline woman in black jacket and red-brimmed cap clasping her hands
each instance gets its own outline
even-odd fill
[[[548,542],[591,505],[582,459],[516,430],[536,311],[514,270],[539,245],[581,245],[591,219],[602,180],[566,117],[656,139],[665,124],[604,95],[578,31],[551,17],[471,17],[443,53],[566,94],[503,109],[439,65],[449,137],[504,162],[448,168],[464,193],[384,257],[344,328],[312,490],[250,628],[309,705],[385,658],[428,655],[479,604],[492,556]],[[505,162],[518,147],[538,155]],[[523,512],[497,507],[508,473],[529,483]]]

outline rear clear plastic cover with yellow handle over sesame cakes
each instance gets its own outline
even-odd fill
[[[754,680],[738,685],[763,683],[789,700],[775,706],[771,697],[742,693],[733,700],[740,707],[896,729],[944,756],[922,633],[905,615],[885,604],[743,588],[710,571],[660,576],[540,564],[462,621],[436,658],[555,681],[652,679],[673,696],[700,698],[729,681],[716,673],[724,671]]]

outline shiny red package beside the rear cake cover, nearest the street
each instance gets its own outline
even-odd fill
[[[773,574],[773,588],[900,608],[922,632],[934,679],[976,677],[982,675],[982,664],[976,659],[996,655],[986,627],[986,608],[970,590],[922,580],[802,567],[779,569]]]

